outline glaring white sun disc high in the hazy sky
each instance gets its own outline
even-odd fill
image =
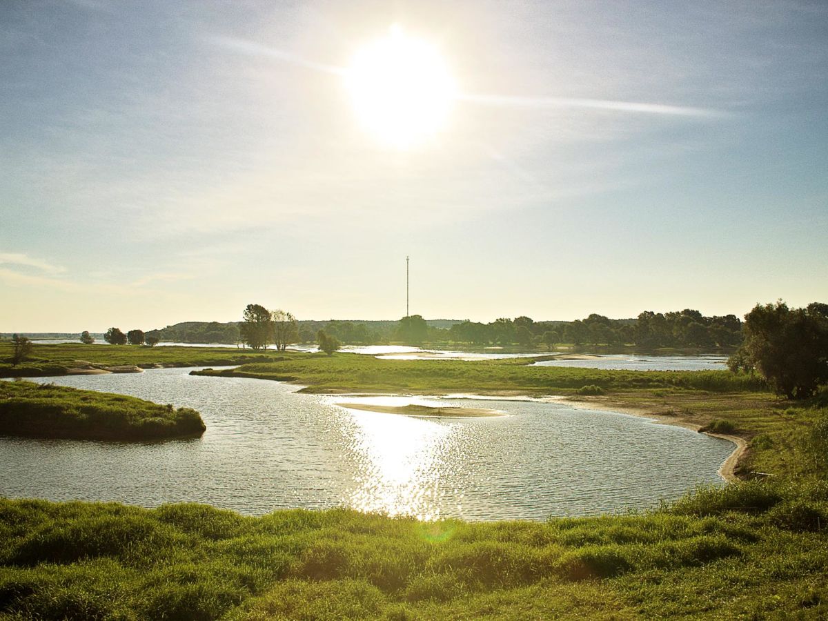
[[[344,77],[359,122],[388,147],[434,137],[455,101],[455,81],[437,47],[398,26],[361,47]]]

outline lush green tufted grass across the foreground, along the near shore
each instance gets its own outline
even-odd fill
[[[828,489],[643,515],[423,523],[349,510],[0,501],[9,619],[819,619]]]

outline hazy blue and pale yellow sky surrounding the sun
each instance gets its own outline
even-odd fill
[[[455,84],[413,146],[344,70]],[[828,3],[0,2],[0,331],[828,301]]]

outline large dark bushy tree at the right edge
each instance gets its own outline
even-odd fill
[[[757,371],[777,394],[810,397],[828,382],[828,316],[814,303],[789,309],[780,301],[744,315],[744,342],[731,356],[733,371]]]

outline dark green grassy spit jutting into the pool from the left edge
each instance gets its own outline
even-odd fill
[[[2,435],[149,441],[200,437],[205,429],[200,414],[189,407],[51,384],[0,382]]]

